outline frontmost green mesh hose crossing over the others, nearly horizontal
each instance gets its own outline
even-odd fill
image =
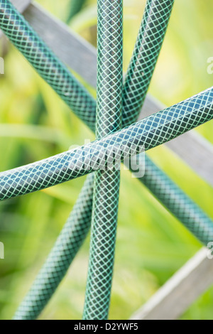
[[[102,139],[0,173],[0,200],[85,176],[164,144],[213,119],[213,87]],[[109,159],[107,159],[109,158]],[[112,164],[110,165],[113,166]]]

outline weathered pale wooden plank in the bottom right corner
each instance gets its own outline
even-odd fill
[[[175,320],[213,284],[213,259],[202,248],[158,290],[132,320]]]

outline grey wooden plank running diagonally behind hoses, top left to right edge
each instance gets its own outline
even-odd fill
[[[18,9],[26,9],[29,0],[13,0]],[[31,4],[24,16],[56,55],[82,78],[96,87],[96,49],[70,31],[70,28],[46,12],[38,4]],[[163,109],[163,104],[150,95],[139,119]],[[213,146],[195,131],[165,144],[182,158],[199,176],[213,186]]]

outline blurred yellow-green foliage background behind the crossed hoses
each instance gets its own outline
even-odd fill
[[[67,20],[70,0],[40,0],[45,9]],[[124,0],[124,70],[141,23],[144,0]],[[166,105],[212,86],[207,58],[213,56],[213,2],[177,0],[150,92]],[[87,6],[70,28],[96,44],[97,4]],[[6,50],[8,48],[8,50]],[[8,51],[6,53],[6,51]],[[0,170],[31,163],[94,139],[53,90],[38,77],[11,44],[1,47],[5,75],[0,76]],[[213,142],[212,122],[200,131]],[[149,152],[213,218],[213,190],[165,147]],[[204,163],[204,162],[203,162]],[[18,303],[53,246],[80,192],[83,178],[0,205],[0,319],[13,316]],[[153,196],[122,172],[111,319],[126,319],[145,303],[201,247]],[[89,238],[40,318],[80,319],[87,277]],[[193,286],[192,286],[193,289]],[[213,289],[182,316],[213,319]]]

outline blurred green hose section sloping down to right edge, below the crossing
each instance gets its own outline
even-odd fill
[[[136,157],[133,157],[131,159],[131,171],[133,173],[136,171],[137,163]],[[204,246],[207,246],[213,238],[212,220],[183,193],[178,185],[171,181],[160,168],[155,166],[148,156],[146,156],[145,166],[144,176],[139,180]]]

